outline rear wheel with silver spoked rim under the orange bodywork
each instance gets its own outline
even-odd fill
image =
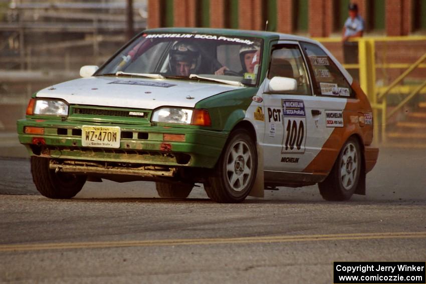
[[[351,137],[340,150],[330,174],[318,183],[322,198],[329,201],[349,200],[358,186],[361,163],[358,140]]]

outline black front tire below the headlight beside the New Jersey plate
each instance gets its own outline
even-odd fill
[[[46,197],[69,199],[83,188],[86,176],[55,173],[49,169],[49,158],[31,157],[31,173],[37,190]]]

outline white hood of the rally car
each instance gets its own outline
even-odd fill
[[[69,104],[93,106],[193,108],[205,98],[241,88],[243,87],[189,80],[89,77],[53,85],[39,91],[37,97],[63,99]]]

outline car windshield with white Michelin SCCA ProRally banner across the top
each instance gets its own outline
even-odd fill
[[[112,58],[96,76],[119,72],[121,76],[155,78],[161,75],[253,86],[258,82],[261,44],[260,39],[246,37],[144,33]]]

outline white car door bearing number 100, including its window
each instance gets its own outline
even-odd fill
[[[326,104],[317,104],[313,96],[299,43],[279,42],[273,47],[267,80],[276,76],[295,79],[297,89],[277,93],[265,88],[264,168],[302,172],[320,151],[319,138],[327,135]]]

